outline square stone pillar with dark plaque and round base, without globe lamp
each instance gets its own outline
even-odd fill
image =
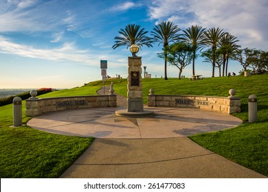
[[[126,110],[118,110],[116,115],[144,117],[153,115],[153,111],[144,111],[142,99],[142,57],[129,57],[128,98]]]

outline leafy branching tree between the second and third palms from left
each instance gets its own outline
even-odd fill
[[[165,58],[172,65],[179,69],[179,80],[183,69],[192,62],[192,45],[178,42],[168,45],[163,53],[159,54],[160,58]]]

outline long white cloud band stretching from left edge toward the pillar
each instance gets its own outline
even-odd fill
[[[116,62],[118,58],[122,58],[117,54],[110,54],[102,51],[93,51],[89,49],[78,49],[74,43],[65,43],[61,47],[54,49],[38,49],[30,45],[20,45],[13,43],[7,38],[0,36],[0,53],[22,56],[25,58],[35,58],[52,61],[70,61],[79,62],[91,66],[98,66],[100,60],[109,58],[111,61],[110,67],[119,67],[122,63]]]

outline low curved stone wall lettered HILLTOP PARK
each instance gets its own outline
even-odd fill
[[[241,112],[238,97],[212,97],[197,95],[148,95],[148,106],[200,108],[231,114]]]

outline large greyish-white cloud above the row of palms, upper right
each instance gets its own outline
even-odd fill
[[[237,36],[243,47],[268,49],[267,0],[153,0],[150,19],[172,21],[179,27],[220,27]]]

